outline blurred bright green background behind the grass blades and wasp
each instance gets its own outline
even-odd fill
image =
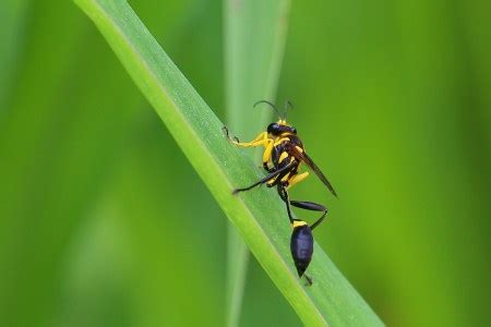
[[[224,118],[221,2],[131,4]],[[2,0],[0,37],[0,325],[220,325],[227,219],[93,24]],[[284,99],[339,194],[316,241],[381,318],[486,325],[491,2],[294,1]],[[253,259],[241,325],[300,325]]]

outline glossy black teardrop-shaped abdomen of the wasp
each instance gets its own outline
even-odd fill
[[[313,253],[312,230],[308,225],[294,228],[290,242],[291,256],[297,267],[298,276],[302,277],[309,267]]]

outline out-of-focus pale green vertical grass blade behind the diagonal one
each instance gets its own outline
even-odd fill
[[[289,4],[289,0],[224,0],[226,122],[243,140],[252,140],[273,117],[271,110],[253,110],[252,104],[260,99],[274,102]],[[261,157],[261,149],[250,153]],[[238,326],[249,250],[231,223],[227,241],[225,318],[227,326]]]

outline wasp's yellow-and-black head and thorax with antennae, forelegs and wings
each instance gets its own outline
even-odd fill
[[[237,146],[264,146],[262,159],[263,168],[268,172],[268,174],[250,186],[235,190],[233,194],[249,191],[262,184],[266,184],[267,187],[279,186],[288,190],[309,177],[309,171],[302,173],[299,173],[298,171],[300,164],[303,162],[318,175],[331,193],[337,197],[336,191],[334,191],[334,187],[331,185],[327,178],[322,173],[321,169],[309,157],[309,155],[307,155],[303,143],[297,135],[297,129],[286,122],[286,109],[288,106],[291,107],[291,104],[287,101],[287,106],[283,114],[278,111],[276,106],[270,101],[258,101],[254,104],[254,107],[259,104],[270,105],[276,113],[278,113],[279,120],[271,123],[266,131],[261,132],[251,142],[240,142],[237,137],[231,140],[228,134],[228,129],[225,126],[224,132]]]

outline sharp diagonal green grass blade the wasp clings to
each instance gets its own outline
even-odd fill
[[[251,252],[307,325],[382,325],[378,316],[315,246],[302,286],[289,254],[290,228],[284,205],[265,187],[232,196],[262,173],[226,141],[221,122],[152,37],[124,1],[77,0],[107,38],[127,71],[154,106],[194,169]],[[203,217],[204,218],[204,217]]]

